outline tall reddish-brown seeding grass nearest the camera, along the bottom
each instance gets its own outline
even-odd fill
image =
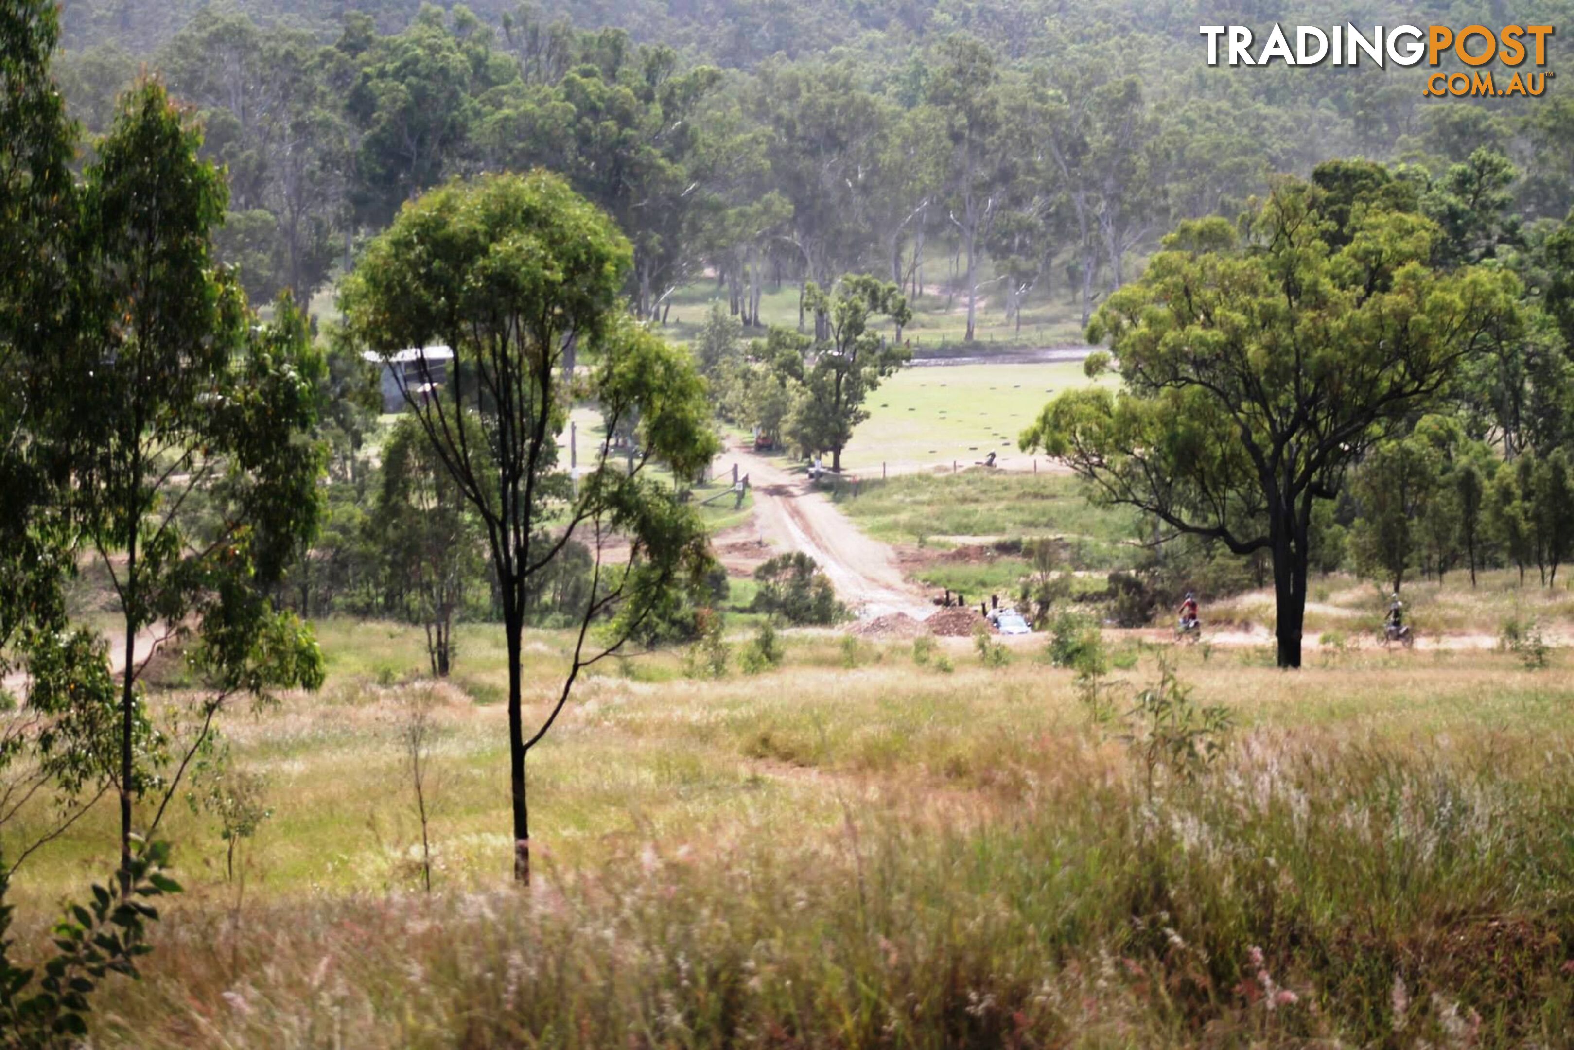
[[[1571,1045],[1568,735],[1254,730],[1151,801],[1092,734],[1015,762],[527,893],[183,908],[94,1045]]]

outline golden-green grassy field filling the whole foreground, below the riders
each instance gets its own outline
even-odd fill
[[[398,735],[430,686],[376,685],[417,636],[323,627],[324,693],[227,724],[274,808],[244,891],[178,812],[190,891],[94,1045],[1569,1045],[1557,671],[1187,650],[1182,680],[1237,729],[1149,793],[1031,647],[987,669],[968,639],[916,663],[793,633],[757,677],[609,663],[532,756],[529,894],[507,888],[502,708],[436,686],[427,899]],[[563,644],[530,638],[532,713]],[[1122,697],[1157,677],[1130,655]],[[499,671],[467,631],[460,680]],[[107,871],[112,825],[24,869],[24,948]]]

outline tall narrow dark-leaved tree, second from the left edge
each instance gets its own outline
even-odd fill
[[[258,326],[233,277],[214,268],[225,184],[198,148],[162,85],[127,93],[85,170],[83,327],[50,373],[49,397],[71,406],[47,431],[71,468],[71,521],[121,616],[110,779],[123,891],[134,804],[153,786],[134,754],[146,738],[150,638],[183,639],[205,686],[194,748],[228,699],[323,678],[310,631],[268,598],[318,521],[323,455],[305,434],[321,359],[288,299]]]

